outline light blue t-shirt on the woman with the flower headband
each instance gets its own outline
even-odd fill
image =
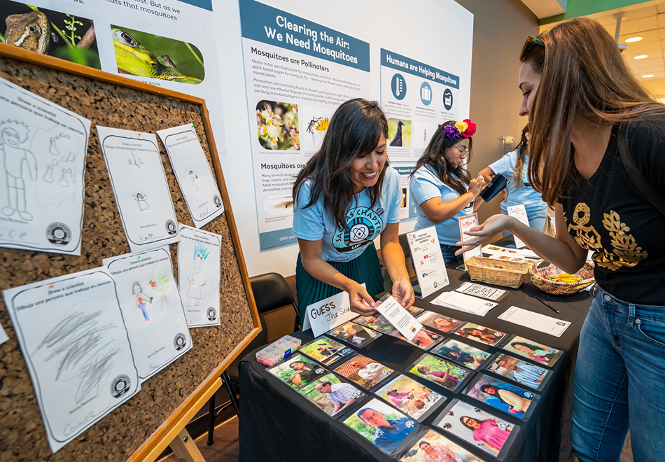
[[[460,213],[448,220],[444,220],[441,223],[430,221],[423,209],[421,209],[420,204],[434,197],[441,197],[442,202],[449,202],[460,196],[456,190],[445,185],[430,168],[432,167],[423,165],[423,167],[417,169],[413,174],[411,183],[409,183],[411,197],[416,204],[416,213],[418,214],[418,220],[414,229],[421,230],[428,226],[436,226],[439,244],[454,246],[460,239],[459,218],[473,213],[473,201]]]

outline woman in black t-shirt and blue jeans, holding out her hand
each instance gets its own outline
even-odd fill
[[[654,102],[594,20],[529,37],[522,50],[521,116],[531,132],[529,183],[554,206],[556,238],[490,217],[457,253],[512,232],[574,273],[593,251],[599,289],[580,332],[573,449],[581,462],[665,458],[665,216],[633,185],[619,157],[625,137],[645,181],[665,197],[665,106]]]

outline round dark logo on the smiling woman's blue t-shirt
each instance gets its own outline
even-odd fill
[[[367,207],[356,207],[346,212],[346,226],[337,226],[332,246],[340,253],[351,253],[376,238],[384,228],[377,212]]]

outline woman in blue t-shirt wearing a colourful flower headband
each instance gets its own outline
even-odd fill
[[[430,144],[411,174],[411,195],[418,220],[415,229],[436,225],[441,253],[446,262],[455,258],[459,240],[458,220],[472,214],[485,184],[482,176],[471,179],[463,167],[471,156],[476,125],[470,120],[449,121],[434,132]]]

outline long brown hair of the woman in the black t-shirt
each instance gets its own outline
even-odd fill
[[[522,57],[540,74],[529,114],[529,183],[550,206],[571,186],[573,125],[644,122],[664,116],[621,57],[617,44],[596,21],[577,18],[538,36]]]

